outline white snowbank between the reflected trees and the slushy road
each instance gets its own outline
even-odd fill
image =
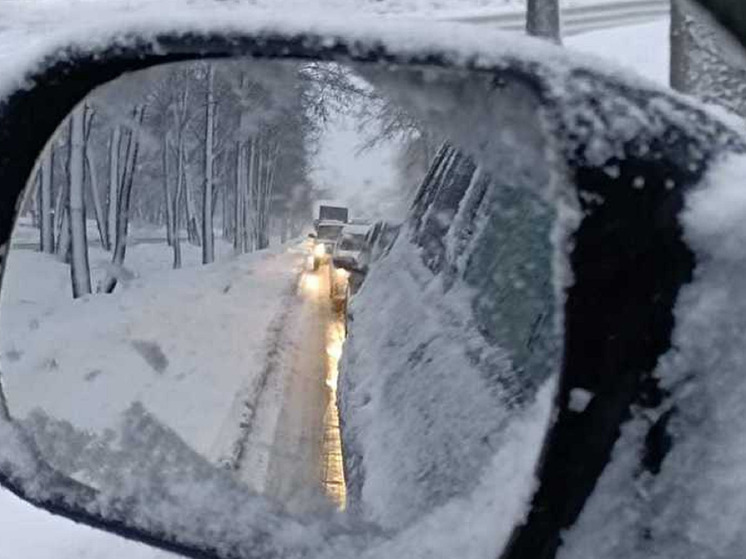
[[[130,257],[137,269],[141,256],[147,269],[155,266],[147,255],[159,253],[163,265],[164,250],[135,246]],[[66,265],[13,251],[0,324],[11,413],[40,407],[101,432],[141,402],[195,450],[218,458],[223,420],[234,399],[255,390],[269,324],[294,293],[303,262],[302,252],[261,251],[151,271],[113,295],[72,300]]]

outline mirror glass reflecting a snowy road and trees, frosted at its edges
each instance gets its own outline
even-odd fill
[[[444,553],[499,549],[560,361],[539,113],[528,86],[417,68],[102,86],[20,208],[10,416],[87,510],[218,555],[406,556],[443,526]]]

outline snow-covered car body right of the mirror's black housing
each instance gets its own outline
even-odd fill
[[[624,426],[562,559],[719,559],[746,549],[744,176],[743,155],[721,158],[688,195],[685,235],[707,256],[682,288],[673,349],[656,370],[667,397]],[[640,471],[635,449],[656,424],[672,445],[652,475]]]

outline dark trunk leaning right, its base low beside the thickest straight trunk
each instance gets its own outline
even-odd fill
[[[116,220],[116,243],[111,262],[114,273],[109,273],[104,279],[99,291],[111,293],[117,285],[117,271],[124,265],[124,257],[127,250],[127,231],[129,229],[130,199],[132,196],[132,184],[135,178],[135,167],[137,166],[137,154],[140,142],[137,138],[137,130],[145,117],[145,106],[136,106],[133,110],[132,120],[135,128],[130,130],[126,136],[126,148],[124,158],[124,169],[119,174],[121,177],[119,195],[117,197],[117,220]]]

